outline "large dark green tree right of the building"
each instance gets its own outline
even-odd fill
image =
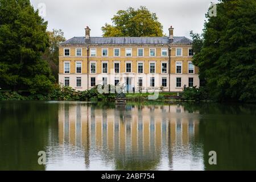
[[[196,55],[212,98],[219,101],[256,101],[256,1],[222,0],[217,16],[207,15],[200,35],[193,35]]]

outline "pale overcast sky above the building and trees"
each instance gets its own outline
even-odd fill
[[[102,36],[101,27],[111,23],[118,10],[139,6],[156,13],[166,35],[172,25],[175,36],[189,38],[191,30],[202,31],[210,2],[217,0],[31,0],[35,9],[40,3],[46,5],[48,30],[61,29],[67,39],[84,36],[86,26],[92,30],[91,36]]]

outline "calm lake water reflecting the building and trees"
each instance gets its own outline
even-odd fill
[[[0,102],[0,170],[256,170],[255,116],[255,105]]]

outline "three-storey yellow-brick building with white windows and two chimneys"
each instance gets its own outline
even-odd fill
[[[164,37],[74,37],[59,45],[59,84],[76,90],[123,84],[127,91],[182,92],[199,87],[199,69],[192,64],[192,40]]]

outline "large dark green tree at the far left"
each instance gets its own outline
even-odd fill
[[[47,22],[29,0],[0,0],[0,87],[48,92],[54,77],[42,59],[49,40]]]

